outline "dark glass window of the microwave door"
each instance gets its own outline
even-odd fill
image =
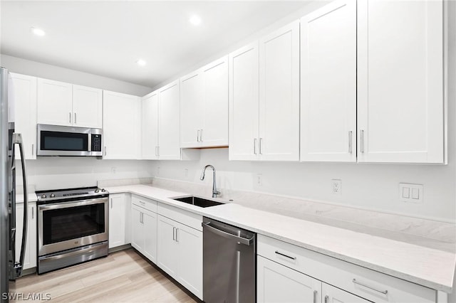
[[[52,151],[87,151],[88,134],[41,131],[41,149]]]

